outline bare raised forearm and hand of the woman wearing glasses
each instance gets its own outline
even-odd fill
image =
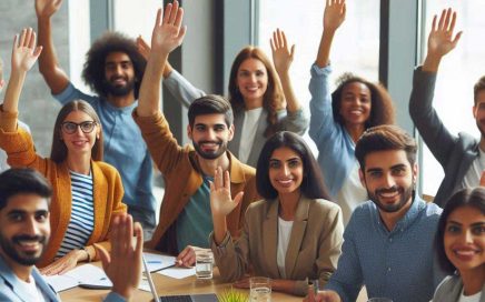
[[[36,47],[36,32],[31,28],[23,29],[20,37],[17,34],[13,39],[12,71],[3,101],[4,112],[18,112],[19,98],[27,72],[36,63],[41,51],[42,47]],[[13,132],[17,124],[1,124],[1,128],[4,132]]]

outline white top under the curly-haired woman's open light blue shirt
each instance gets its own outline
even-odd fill
[[[360,178],[358,177],[359,169],[360,165],[357,159],[355,159],[354,168],[337,195],[337,204],[342,209],[344,225],[347,225],[355,208],[369,199],[366,189],[360,183]]]

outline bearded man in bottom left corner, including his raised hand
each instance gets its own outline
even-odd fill
[[[51,187],[34,170],[10,169],[0,174],[0,301],[59,301],[34,268],[50,236],[51,195]],[[127,214],[116,218],[111,229],[111,255],[102,246],[97,252],[113,283],[105,302],[122,302],[140,282],[142,230]]]

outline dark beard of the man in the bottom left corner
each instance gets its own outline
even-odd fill
[[[39,242],[42,248],[40,251],[36,252],[19,252],[16,249],[16,245],[19,245],[21,241],[31,240]],[[17,235],[13,236],[11,240],[8,240],[3,236],[3,234],[0,234],[0,246],[3,250],[3,253],[8,255],[10,259],[16,261],[17,263],[21,265],[34,265],[39,259],[42,256],[44,250],[46,250],[46,243],[48,238],[43,235]]]

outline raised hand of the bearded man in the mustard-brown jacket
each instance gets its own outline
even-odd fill
[[[168,3],[165,8],[164,19],[161,13],[162,10],[159,9],[151,34],[151,50],[169,53],[181,44],[186,34],[186,27],[181,27],[184,9],[175,0],[174,3]]]

